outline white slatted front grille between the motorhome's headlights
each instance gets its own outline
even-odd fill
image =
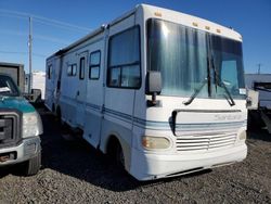
[[[235,143],[236,133],[201,133],[193,136],[180,136],[177,138],[177,151],[211,151],[215,149],[232,146]]]

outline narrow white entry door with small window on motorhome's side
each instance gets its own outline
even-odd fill
[[[77,125],[83,128],[85,120],[85,109],[86,109],[86,94],[87,94],[87,65],[88,65],[88,51],[81,52],[78,54],[78,65],[79,65],[79,75],[78,75],[78,87],[76,92],[77,101],[77,114],[76,122]]]

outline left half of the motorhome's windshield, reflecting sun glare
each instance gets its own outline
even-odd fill
[[[149,69],[162,73],[164,95],[190,97],[207,77],[206,33],[160,20],[147,22]],[[207,87],[198,95],[207,97]]]

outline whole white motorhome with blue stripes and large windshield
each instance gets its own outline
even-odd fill
[[[247,155],[242,36],[140,4],[47,59],[46,105],[138,180]]]

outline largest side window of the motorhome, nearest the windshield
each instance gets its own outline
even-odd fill
[[[107,86],[140,88],[140,33],[138,26],[109,38]]]

